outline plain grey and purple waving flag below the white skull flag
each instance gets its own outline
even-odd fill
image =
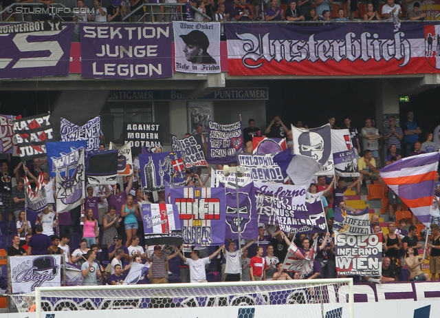
[[[322,165],[314,158],[294,155],[292,149],[286,149],[274,156],[274,162],[287,172],[292,182],[298,187],[309,187],[314,174]]]

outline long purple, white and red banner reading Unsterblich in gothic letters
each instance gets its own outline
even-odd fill
[[[439,73],[440,25],[225,25],[230,75]],[[434,43],[434,49],[432,48]]]

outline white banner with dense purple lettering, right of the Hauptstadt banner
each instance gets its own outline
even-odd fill
[[[98,150],[101,135],[101,117],[91,118],[85,125],[78,126],[61,118],[61,141],[87,140],[87,151]]]

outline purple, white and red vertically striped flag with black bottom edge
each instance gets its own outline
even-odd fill
[[[179,211],[174,204],[142,204],[145,242],[148,245],[181,244]]]

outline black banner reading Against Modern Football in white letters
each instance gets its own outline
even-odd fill
[[[124,142],[130,142],[131,153],[142,153],[142,146],[163,146],[162,124],[160,123],[124,123]]]

